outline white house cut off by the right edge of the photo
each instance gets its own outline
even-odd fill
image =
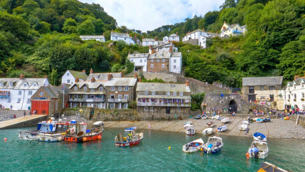
[[[292,82],[287,82],[281,95],[283,95],[284,108],[305,110],[305,76],[296,75]]]

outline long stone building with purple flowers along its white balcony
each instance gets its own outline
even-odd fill
[[[139,113],[190,114],[191,90],[185,84],[141,82],[136,89]]]

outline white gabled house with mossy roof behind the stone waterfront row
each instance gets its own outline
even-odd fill
[[[86,71],[83,70],[80,72],[80,71],[67,70],[66,73],[63,74],[63,76],[61,77],[61,83],[73,84],[76,78],[78,78],[80,81],[85,81],[88,78]]]

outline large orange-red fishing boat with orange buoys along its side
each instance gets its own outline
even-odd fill
[[[104,131],[103,126],[104,123],[98,121],[87,129],[86,123],[76,123],[75,120],[72,120],[69,124],[69,130],[66,132],[65,141],[84,142],[101,139]]]

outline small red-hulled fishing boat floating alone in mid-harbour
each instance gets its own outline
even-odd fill
[[[135,131],[132,131],[131,134],[128,134],[126,137],[123,137],[123,134],[119,133],[115,137],[115,145],[119,147],[138,145],[141,143],[143,137],[144,135],[142,132],[135,134]]]

